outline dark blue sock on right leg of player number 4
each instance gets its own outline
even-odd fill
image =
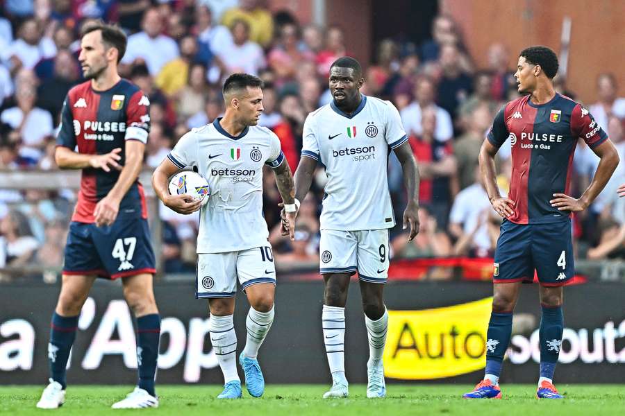
[[[556,370],[560,346],[562,345],[562,331],[564,318],[562,306],[542,306],[542,318],[538,336],[540,340],[540,376],[553,379]]]

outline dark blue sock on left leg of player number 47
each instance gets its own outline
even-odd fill
[[[50,343],[48,344],[48,363],[50,365],[50,377],[58,381],[65,390],[65,372],[69,352],[76,339],[78,329],[78,316],[61,316],[52,314],[50,324]]]

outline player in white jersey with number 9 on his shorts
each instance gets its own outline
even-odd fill
[[[324,276],[322,327],[332,374],[324,397],[347,397],[344,370],[344,308],[351,275],[358,272],[369,336],[367,397],[384,397],[382,356],[388,314],[383,287],[388,273],[388,229],[394,227],[387,184],[387,157],[397,154],[408,189],[403,227],[419,231],[417,163],[403,131],[399,112],[388,101],[360,94],[365,82],[358,61],[339,58],[330,70],[333,101],[308,114],[302,157],[295,173],[295,194],[306,196],[317,163],[325,167],[320,218],[319,271]],[[284,225],[290,220],[284,218]],[[286,230],[285,230],[286,232]]]

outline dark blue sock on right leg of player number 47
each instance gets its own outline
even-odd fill
[[[156,397],[154,378],[160,338],[160,315],[152,313],[137,318],[137,363],[139,365],[139,388]]]

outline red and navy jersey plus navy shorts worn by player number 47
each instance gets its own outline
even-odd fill
[[[122,78],[112,88],[96,91],[87,81],[69,90],[56,141],[58,146],[89,155],[104,155],[119,148],[118,163],[123,166],[126,140],[146,144],[149,125],[149,99],[136,85]],[[156,272],[147,205],[138,179],[119,203],[115,223],[107,227],[94,224],[96,205],[113,189],[119,174],[115,169],[83,168],[63,274],[115,279]]]

